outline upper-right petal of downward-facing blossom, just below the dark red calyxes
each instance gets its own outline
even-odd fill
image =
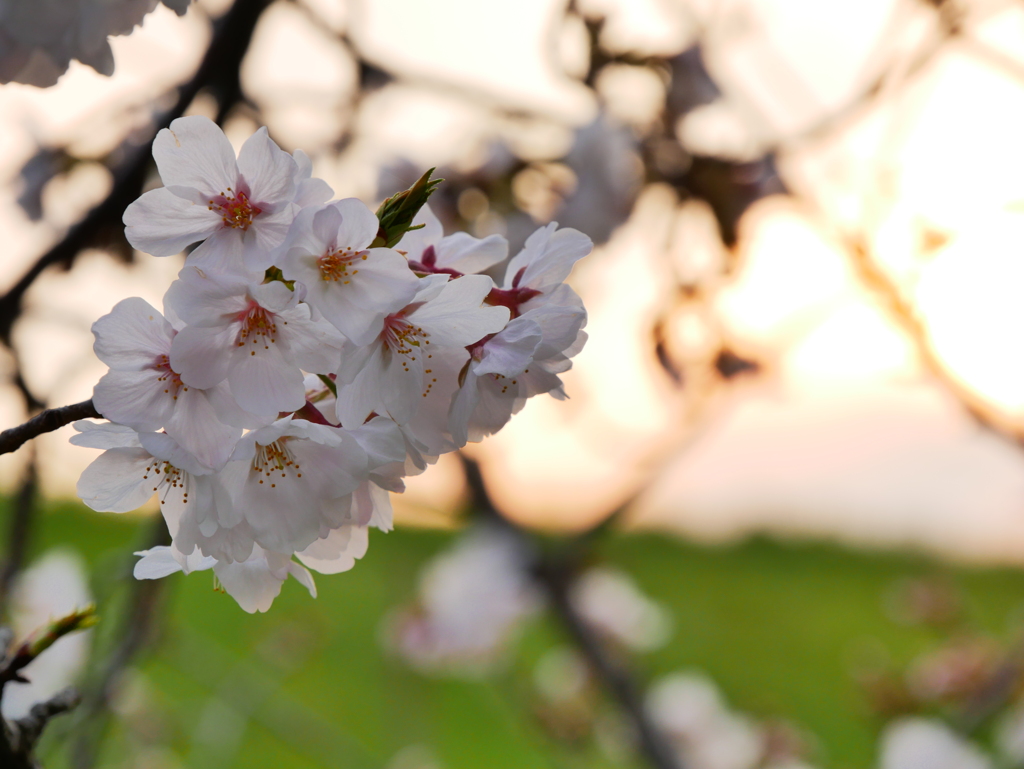
[[[465,347],[509,322],[507,307],[484,307],[483,298],[494,287],[486,275],[464,275],[450,281],[436,298],[410,314],[410,321],[430,334],[432,344]]]

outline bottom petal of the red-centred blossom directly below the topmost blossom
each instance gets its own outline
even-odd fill
[[[302,372],[285,360],[276,344],[257,355],[237,355],[227,384],[239,405],[252,414],[293,412],[306,402]]]

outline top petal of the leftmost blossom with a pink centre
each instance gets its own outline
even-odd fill
[[[122,299],[92,325],[96,357],[117,371],[148,369],[171,349],[174,330],[147,301]]]

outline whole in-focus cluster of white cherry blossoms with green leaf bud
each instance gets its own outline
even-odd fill
[[[587,314],[565,283],[590,240],[552,223],[507,260],[499,236],[444,236],[425,175],[375,214],[329,202],[300,151],[262,128],[236,157],[210,120],[157,136],[164,186],[125,211],[155,256],[198,244],[164,297],[93,326],[110,372],[72,442],[104,450],[78,492],[127,512],[154,494],[173,542],[139,579],[212,568],[247,611],[289,574],[336,573],[391,528],[389,493],[502,428],[559,374]],[[489,274],[501,272],[496,283]],[[489,274],[483,273],[487,270]]]

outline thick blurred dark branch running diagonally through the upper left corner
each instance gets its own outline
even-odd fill
[[[220,115],[226,114],[225,103],[239,93],[239,65],[249,48],[253,29],[269,0],[236,0],[234,5],[216,23],[213,42],[191,80],[181,86],[173,108],[160,119],[157,131],[181,117],[203,88],[212,88],[220,99]],[[233,102],[231,102],[233,103]],[[156,136],[157,131],[154,131]],[[128,205],[138,198],[150,168],[150,147],[133,144],[124,147],[125,159],[114,169],[114,188],[106,199],[93,208],[82,221],[73,226],[63,239],[43,254],[22,279],[0,297],[0,341],[9,345],[10,331],[22,313],[25,294],[36,279],[54,264],[71,266],[79,252],[99,242],[103,236],[124,238],[121,216]]]

